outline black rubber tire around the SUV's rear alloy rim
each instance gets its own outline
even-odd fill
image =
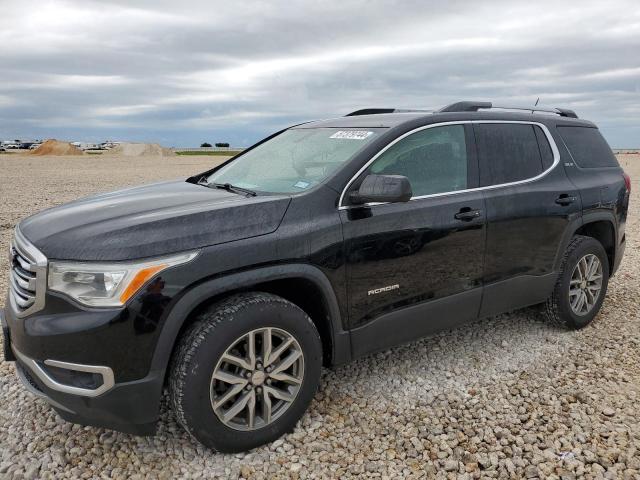
[[[585,285],[584,292],[589,293],[589,297],[586,297],[587,293],[584,294],[585,298],[590,298],[593,305],[589,310],[578,314],[574,308],[572,308],[569,289],[570,287],[576,287],[575,282],[578,280],[574,276],[574,272],[576,268],[579,268],[577,267],[578,262],[583,258],[586,258],[588,261],[591,259],[591,256],[597,257],[600,262],[600,290],[597,296],[591,295],[591,293],[589,293],[591,292],[591,287]],[[579,272],[577,273],[577,276],[580,276]],[[593,276],[593,278],[597,277],[598,275]],[[572,285],[571,282],[574,282],[574,284]],[[602,244],[592,237],[576,235],[573,237],[565,251],[558,280],[556,281],[553,293],[547,299],[545,304],[545,313],[547,318],[556,325],[561,325],[574,330],[586,327],[593,321],[600,311],[600,307],[602,306],[602,302],[604,301],[604,297],[607,293],[608,284],[609,260]],[[593,300],[594,297],[595,301]],[[572,297],[572,299],[576,298],[576,296]],[[586,309],[586,306],[583,306],[583,308]]]

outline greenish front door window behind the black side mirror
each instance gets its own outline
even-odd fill
[[[371,165],[371,173],[404,175],[414,196],[467,188],[463,125],[427,128],[400,140]]]

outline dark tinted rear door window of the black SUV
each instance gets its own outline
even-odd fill
[[[533,125],[477,124],[475,132],[482,185],[516,182],[542,173]]]

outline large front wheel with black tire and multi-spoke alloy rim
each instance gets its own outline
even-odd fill
[[[278,347],[286,348],[276,359]],[[269,365],[262,365],[262,356],[271,359]],[[292,358],[290,367],[276,371]],[[180,339],[171,364],[171,402],[178,423],[203,445],[246,451],[293,430],[315,395],[321,368],[320,335],[303,310],[276,295],[242,293],[201,313]]]

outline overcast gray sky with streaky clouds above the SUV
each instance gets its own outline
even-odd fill
[[[640,147],[640,2],[0,0],[0,138],[244,146],[458,100],[573,108]]]

